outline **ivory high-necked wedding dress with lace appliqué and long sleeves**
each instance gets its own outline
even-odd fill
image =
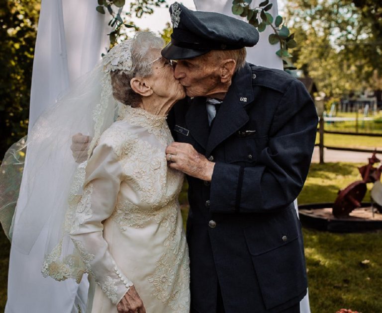
[[[92,277],[88,312],[117,312],[132,284],[147,313],[190,310],[178,203],[183,173],[169,168],[165,158],[172,141],[165,116],[127,106],[86,165],[83,195],[68,227]]]

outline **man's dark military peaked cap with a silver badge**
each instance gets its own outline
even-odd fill
[[[178,2],[171,5],[170,13],[173,33],[162,50],[166,59],[190,59],[211,50],[252,47],[259,41],[254,26],[224,14],[191,11]]]

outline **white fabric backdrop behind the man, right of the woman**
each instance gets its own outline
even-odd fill
[[[262,1],[263,0],[253,0],[251,7],[258,6]],[[198,11],[218,12],[247,21],[246,17],[232,13],[232,0],[193,0],[193,2]],[[273,6],[268,12],[275,18],[278,14],[277,0],[270,0],[270,3],[273,3]],[[259,42],[254,47],[247,48],[247,61],[267,68],[283,70],[283,61],[276,55],[276,51],[280,49],[280,45],[271,45],[268,41],[268,36],[272,33],[273,29],[270,27],[267,27],[265,31],[260,33]],[[298,215],[297,199],[294,201],[294,207]],[[301,313],[310,313],[308,294],[306,294],[300,303],[300,311]]]

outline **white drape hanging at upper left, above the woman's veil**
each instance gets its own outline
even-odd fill
[[[93,0],[42,0],[33,61],[29,129],[108,46],[106,15]]]

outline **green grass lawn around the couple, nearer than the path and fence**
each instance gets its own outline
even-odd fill
[[[360,179],[354,163],[312,164],[298,202],[332,202],[337,191]],[[370,186],[369,186],[370,187]],[[187,216],[187,184],[180,195]],[[366,201],[369,199],[369,193]],[[312,313],[341,308],[363,313],[382,312],[382,232],[332,234],[303,229]],[[9,243],[0,235],[0,312],[6,301]],[[369,260],[364,264],[362,261]]]

